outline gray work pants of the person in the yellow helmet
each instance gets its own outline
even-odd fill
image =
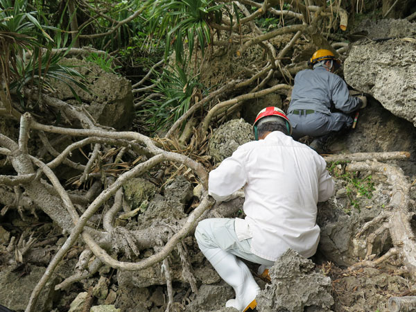
[[[292,137],[296,140],[305,135],[322,137],[322,135],[327,135],[330,132],[351,127],[353,121],[352,117],[340,112],[333,112],[331,114],[321,112],[304,114],[302,110],[300,112],[302,114],[287,114],[293,129]]]

